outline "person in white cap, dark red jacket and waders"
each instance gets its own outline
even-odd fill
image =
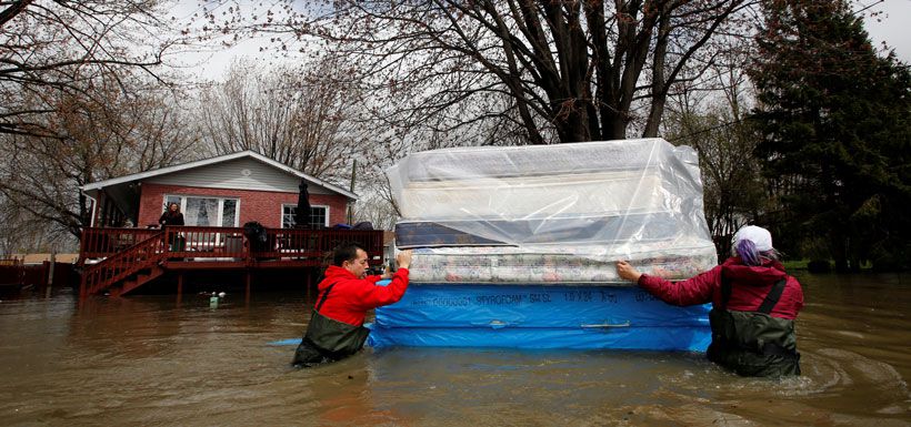
[[[625,261],[617,263],[617,273],[668,304],[711,302],[710,360],[742,376],[800,375],[794,336],[803,308],[800,283],[784,272],[765,228],[744,226],[732,243],[735,256],[682,282],[641,274]]]

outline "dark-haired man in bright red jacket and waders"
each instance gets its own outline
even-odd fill
[[[367,312],[402,298],[408,288],[411,251],[396,256],[398,270],[392,275],[368,276],[367,260],[367,252],[353,243],[332,251],[332,264],[319,284],[313,316],[294,352],[294,366],[311,367],[353,355],[370,335],[370,329],[363,327]],[[389,285],[377,285],[389,277]]]

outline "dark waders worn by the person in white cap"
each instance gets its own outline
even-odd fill
[[[740,312],[727,308],[731,282],[722,277],[721,304],[709,312],[709,360],[749,377],[800,375],[794,321],[769,315],[781,298],[784,284],[784,278],[775,282],[755,312]]]

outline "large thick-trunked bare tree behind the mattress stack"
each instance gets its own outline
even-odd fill
[[[733,31],[750,1],[280,3],[281,18],[270,9],[256,24],[238,9],[207,17],[220,31],[284,33],[282,50],[324,40],[376,95],[384,128],[541,144],[623,139],[634,120],[657,135],[669,88],[712,62],[721,48],[712,37]]]

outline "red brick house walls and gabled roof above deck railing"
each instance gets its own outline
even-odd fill
[[[308,184],[310,222],[344,223],[357,195],[272,159],[243,151],[82,186],[92,203],[91,226],[158,224],[168,204],[180,204],[186,225],[266,227],[293,225],[301,180]]]

